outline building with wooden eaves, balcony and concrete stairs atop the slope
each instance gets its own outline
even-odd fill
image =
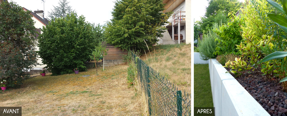
[[[164,13],[172,11],[158,44],[191,43],[191,0],[163,0]]]

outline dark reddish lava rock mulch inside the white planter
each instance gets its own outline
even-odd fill
[[[271,116],[286,116],[287,93],[282,90],[280,80],[258,78],[261,77],[259,72],[254,72],[251,75],[242,74],[236,80]],[[234,74],[232,76],[235,77]]]

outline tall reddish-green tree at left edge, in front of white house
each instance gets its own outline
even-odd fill
[[[30,11],[15,2],[0,4],[0,80],[8,87],[22,84],[26,72],[36,66],[36,28]]]

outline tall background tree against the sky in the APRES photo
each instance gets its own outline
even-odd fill
[[[214,20],[214,17],[216,17],[218,13],[222,13],[222,15],[218,15],[216,18],[222,18],[222,22],[224,23],[226,18],[222,16],[227,16],[231,11],[236,13],[242,5],[243,4],[238,0],[209,0],[205,15],[201,18],[201,29],[206,31],[210,29],[214,23],[219,23],[219,21]]]

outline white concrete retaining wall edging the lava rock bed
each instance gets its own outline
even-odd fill
[[[208,61],[215,116],[270,116],[216,59]]]

